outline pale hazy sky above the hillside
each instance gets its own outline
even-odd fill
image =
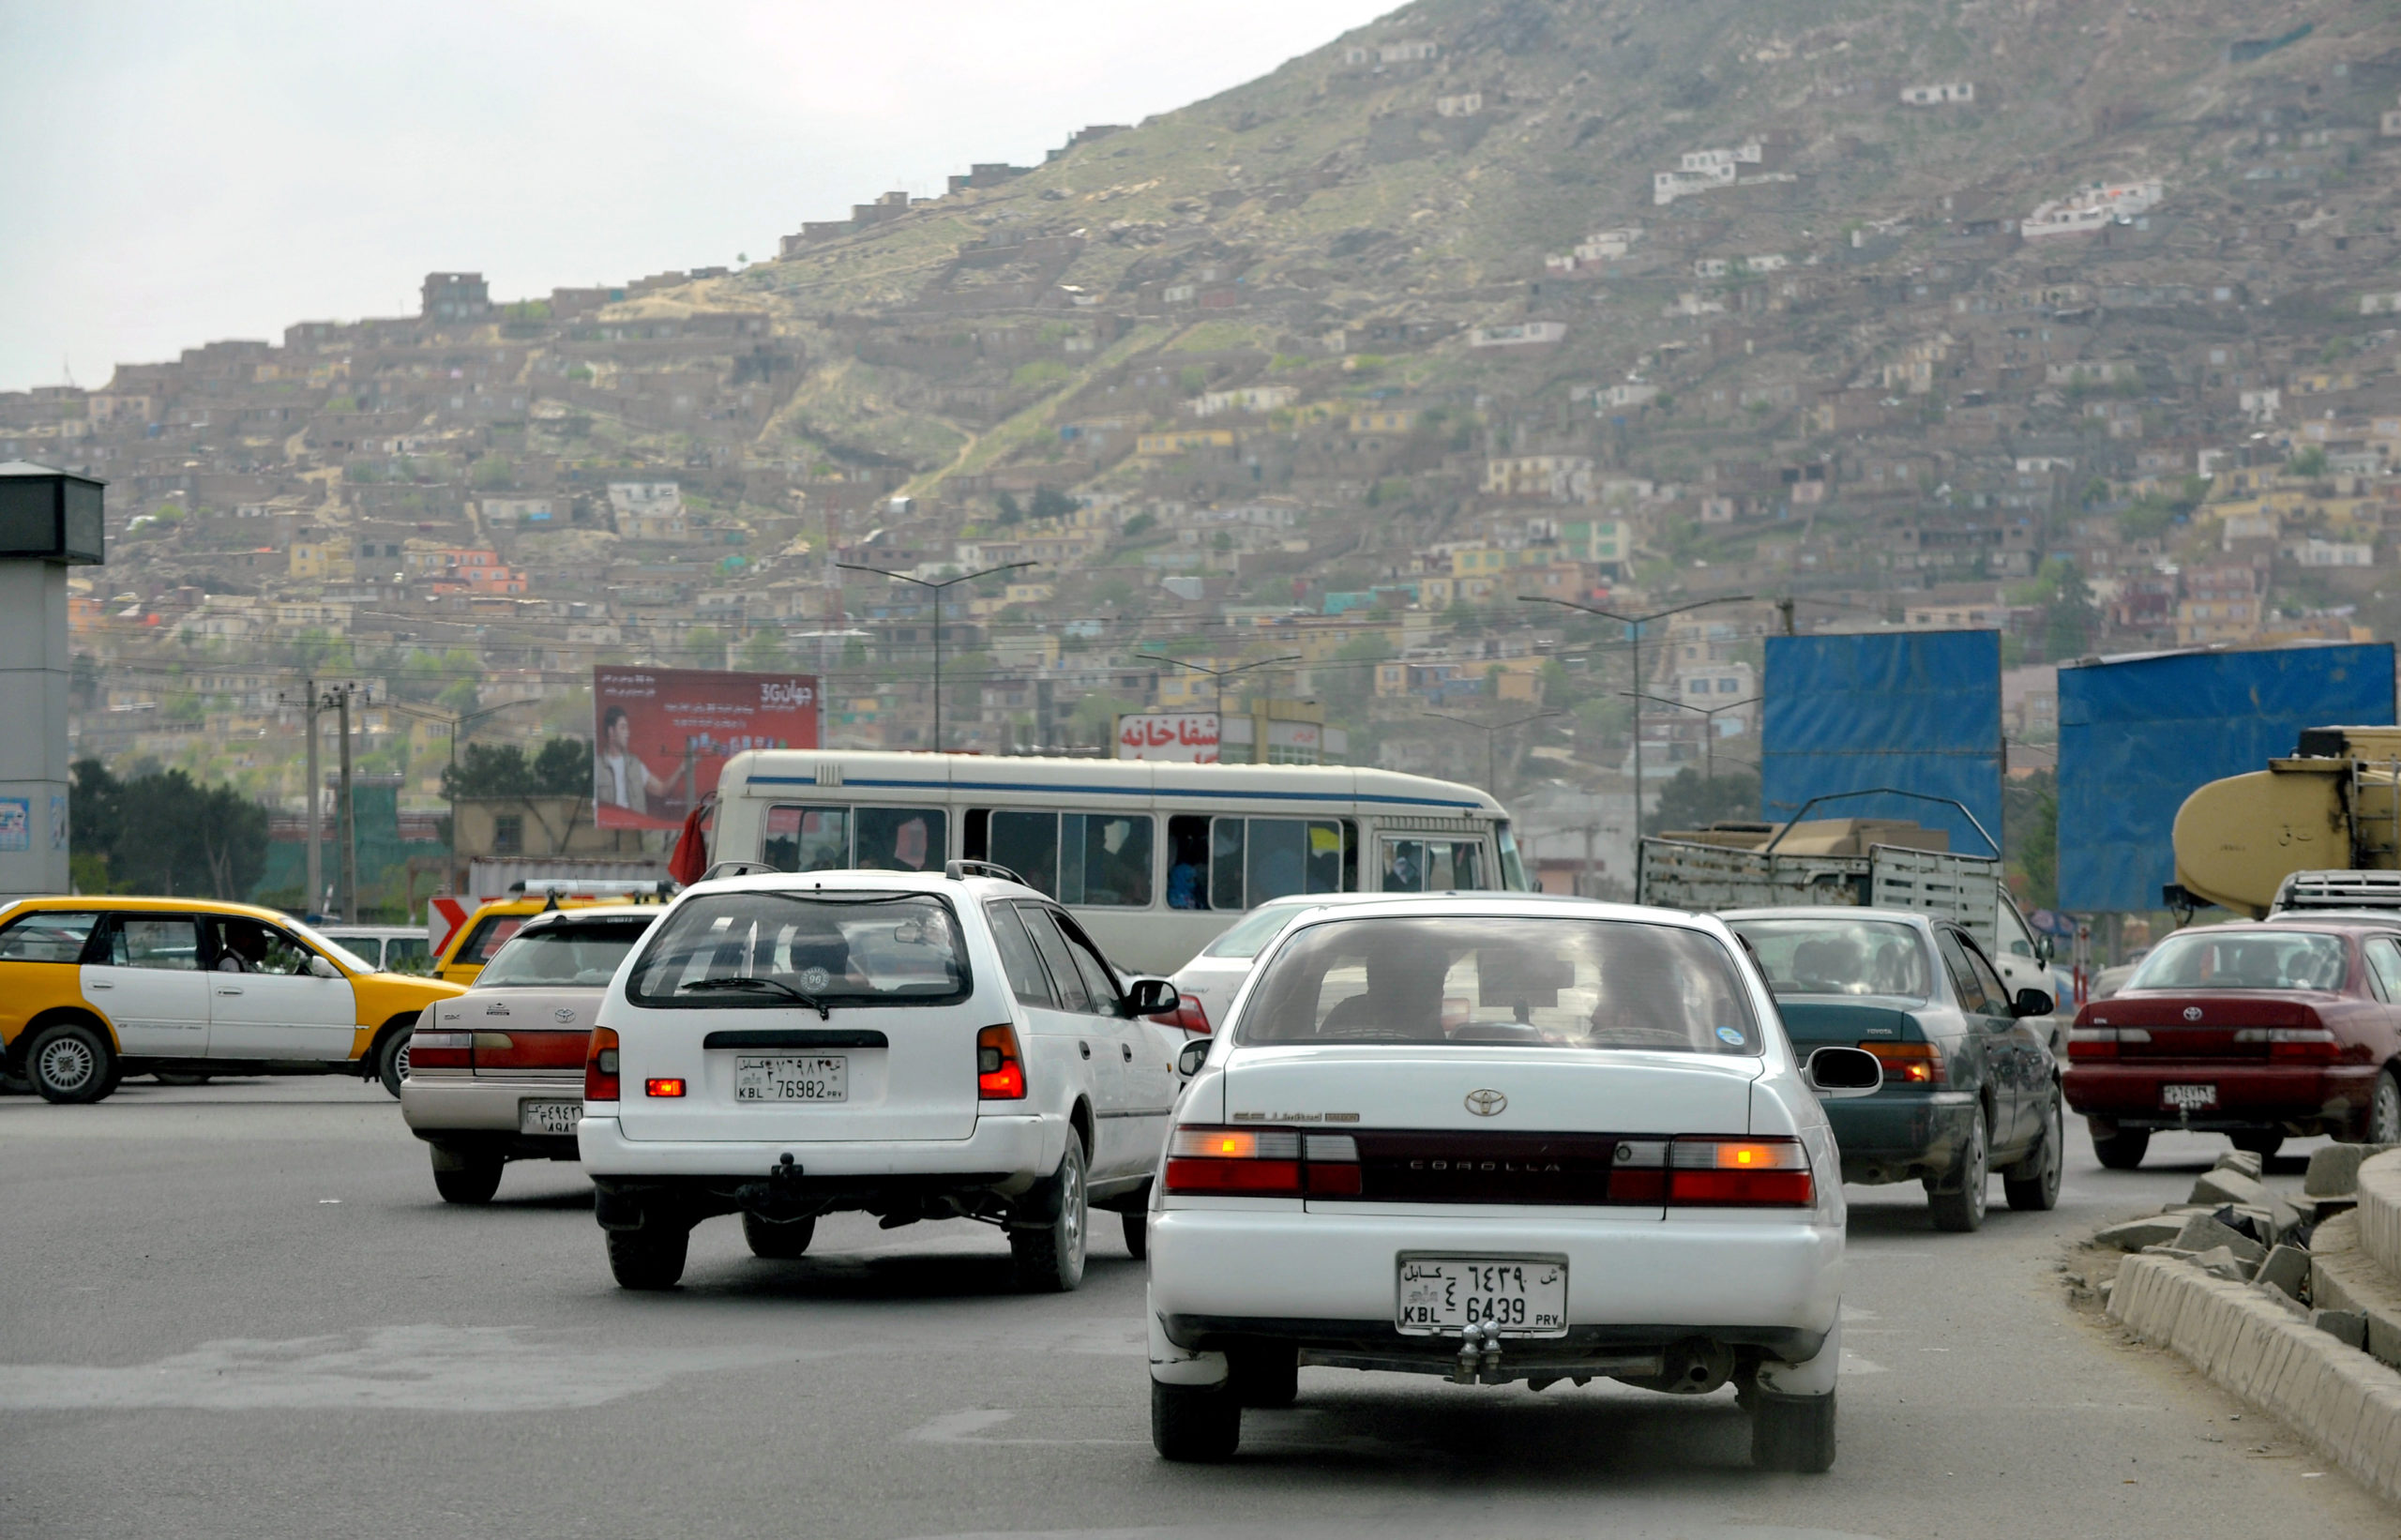
[[[1395,0],[0,0],[0,389],[766,257]]]

